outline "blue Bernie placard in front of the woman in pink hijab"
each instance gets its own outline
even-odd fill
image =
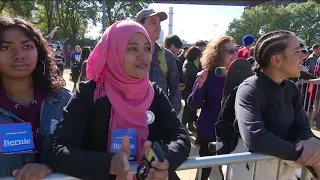
[[[127,135],[130,140],[131,156],[129,161],[135,161],[137,155],[137,130],[136,129],[113,129],[111,152],[116,153],[122,144],[122,138]]]

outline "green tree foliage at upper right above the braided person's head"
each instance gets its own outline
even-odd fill
[[[241,44],[245,34],[258,39],[264,33],[290,30],[308,45],[320,39],[320,5],[314,1],[288,6],[265,4],[246,9],[240,19],[229,24],[227,34]]]

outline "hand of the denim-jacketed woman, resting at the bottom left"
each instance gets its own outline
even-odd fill
[[[45,164],[30,163],[12,172],[15,180],[40,180],[52,172]]]

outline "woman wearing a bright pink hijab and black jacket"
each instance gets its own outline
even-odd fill
[[[154,162],[148,179],[179,179],[190,141],[165,93],[148,78],[152,59],[146,30],[119,21],[101,37],[53,137],[53,170],[88,180],[127,179],[151,142],[166,160]],[[126,136],[124,136],[126,135]],[[121,145],[122,144],[122,145]],[[132,177],[132,176],[131,176]]]

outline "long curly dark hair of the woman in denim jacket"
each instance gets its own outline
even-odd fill
[[[27,19],[0,15],[0,42],[3,40],[4,32],[10,28],[23,30],[35,43],[38,61],[32,73],[34,88],[42,89],[47,93],[59,92],[65,86],[65,81],[59,76],[52,51],[40,31]]]

